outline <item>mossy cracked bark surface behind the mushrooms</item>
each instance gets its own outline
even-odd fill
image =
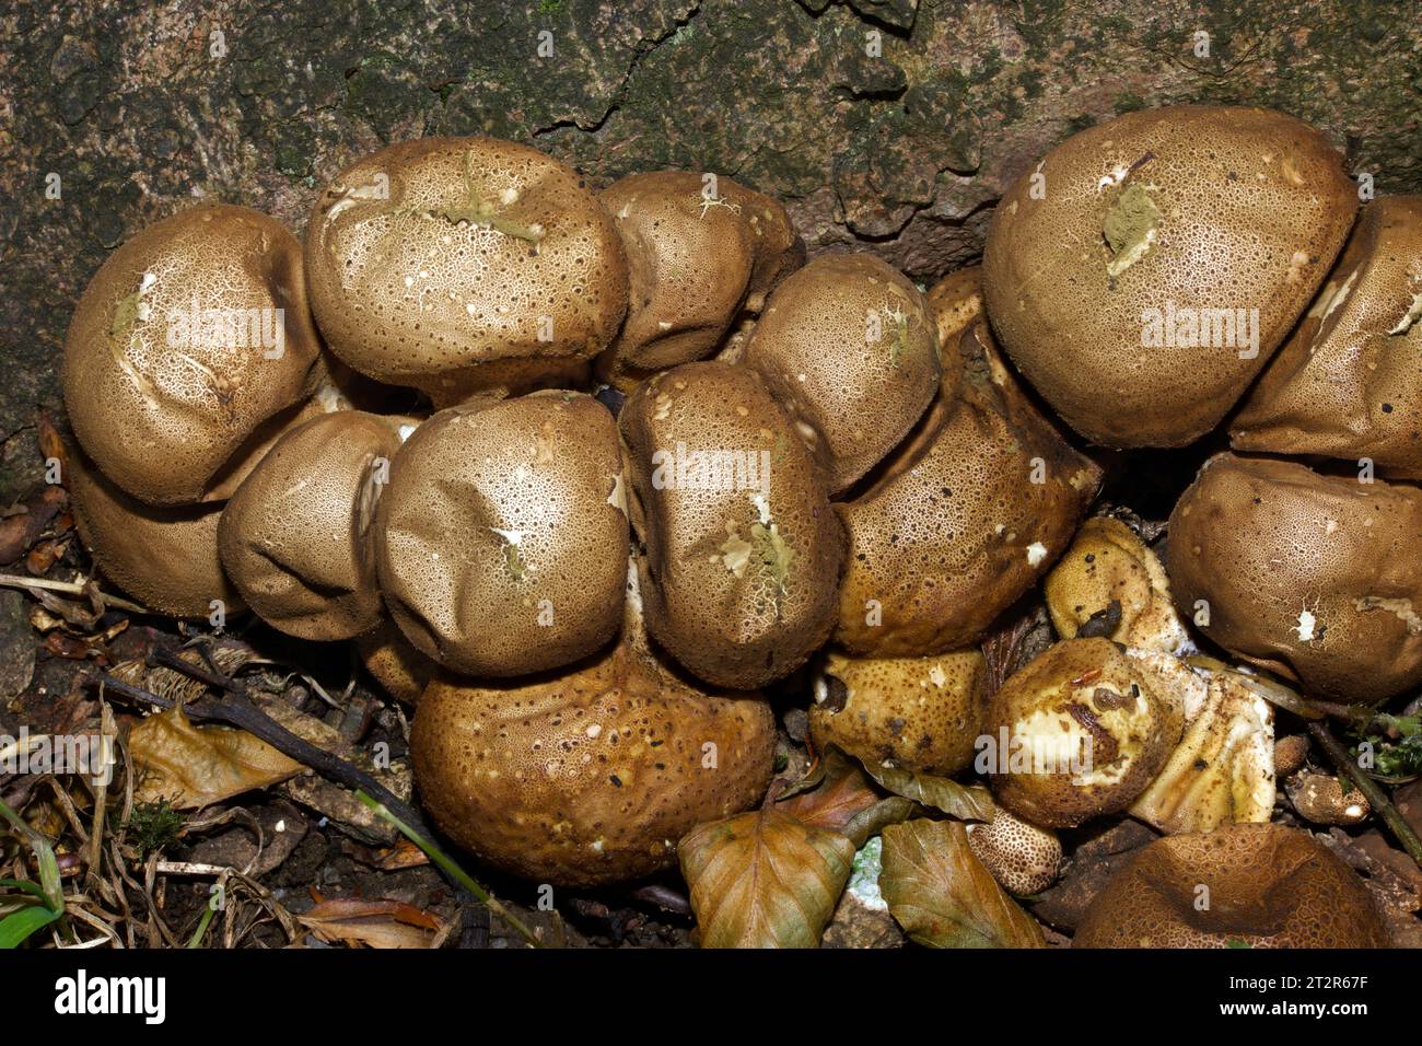
[[[1405,1],[1357,0],[13,7],[0,14],[0,505],[40,478],[36,408],[61,411],[78,293],[118,243],[195,199],[300,231],[356,157],[483,132],[597,184],[654,168],[734,176],[784,199],[812,253],[865,246],[927,282],[980,253],[994,202],[1042,152],[1146,105],[1280,108],[1379,192],[1422,191],[1413,19]]]

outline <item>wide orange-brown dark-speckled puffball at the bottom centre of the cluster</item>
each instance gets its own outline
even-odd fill
[[[685,833],[755,803],[775,719],[754,694],[680,680],[626,636],[538,682],[435,680],[410,749],[445,834],[535,882],[587,887],[668,868]]]

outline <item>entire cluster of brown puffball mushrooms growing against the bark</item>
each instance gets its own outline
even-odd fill
[[[1422,682],[1419,313],[1422,199],[1359,213],[1328,141],[1263,110],[1076,134],[926,293],[806,263],[728,178],[599,192],[429,138],[338,174],[304,245],[202,205],[114,252],[65,344],[67,482],[154,611],[354,640],[415,704],[435,824],[536,882],[658,872],[759,803],[761,692],[793,676],[816,751],[961,777],[991,747],[968,838],[1012,894],[1059,830],[1158,830],[1076,944],[1381,945],[1361,879],[1271,823],[1280,787],[1368,815],[1271,696]],[[1221,424],[1243,453],[1163,562],[1088,518],[1095,448]],[[997,683],[980,643],[1028,593],[1058,642]]]

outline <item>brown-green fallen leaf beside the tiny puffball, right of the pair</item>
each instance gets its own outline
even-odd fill
[[[930,948],[1045,948],[1041,926],[973,855],[958,821],[883,830],[879,891],[904,932]]]

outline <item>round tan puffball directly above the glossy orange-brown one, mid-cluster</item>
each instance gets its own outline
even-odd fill
[[[835,497],[873,468],[923,416],[940,384],[953,398],[963,364],[939,361],[919,289],[875,255],[826,255],[766,302],[741,363],[785,407]]]

